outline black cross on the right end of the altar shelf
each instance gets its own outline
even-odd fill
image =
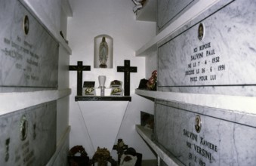
[[[124,72],[125,96],[130,96],[130,72],[137,72],[137,67],[131,67],[130,60],[125,60],[125,66],[117,66],[117,72]]]

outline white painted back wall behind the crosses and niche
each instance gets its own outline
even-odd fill
[[[131,60],[131,66],[137,66],[137,73],[131,73],[132,101],[128,103],[127,109],[123,108],[126,111],[119,133],[115,136],[115,143],[118,138],[122,138],[128,146],[143,153],[143,159],[156,158],[135,131],[135,124],[140,124],[140,111],[153,113],[153,102],[134,94],[140,79],[145,78],[145,57],[135,57],[135,51],[156,34],[156,23],[136,21],[132,11],[134,4],[130,0],[70,0],[69,2],[73,11],[72,17],[68,20],[67,29],[69,47],[72,48],[69,64],[76,65],[77,61],[83,61],[84,65],[90,65],[91,71],[83,72],[83,81],[95,81],[96,87],[99,85],[98,75],[106,75],[106,87],[114,79],[123,81],[124,74],[116,72],[116,66],[123,66],[124,60]],[[93,68],[94,37],[100,34],[113,37],[113,69]],[[94,115],[98,125],[88,128],[82,114],[93,112],[95,105],[99,107],[104,105],[118,111],[119,102],[86,102],[86,111],[81,110],[79,103],[75,102],[76,78],[76,72],[69,72],[69,86],[72,88],[72,94],[69,97],[70,147],[82,145],[91,157],[94,155],[94,147],[91,143],[94,140],[91,140],[88,131],[97,131],[101,137],[104,137],[104,134],[109,131],[100,128],[100,121],[108,117],[100,113]],[[108,143],[106,146],[113,145]],[[113,151],[112,155],[116,158],[114,156],[116,151]]]

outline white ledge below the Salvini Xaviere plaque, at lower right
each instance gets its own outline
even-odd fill
[[[171,166],[183,165],[180,163],[180,161],[177,160],[177,158],[174,157],[174,155],[171,155],[171,153],[169,153],[167,150],[165,150],[158,143],[151,139],[153,135],[152,131],[145,129],[140,125],[136,125],[136,131],[138,134],[140,134],[140,137],[142,137],[143,140],[154,150],[154,152],[156,152],[158,157],[165,161],[165,164]]]

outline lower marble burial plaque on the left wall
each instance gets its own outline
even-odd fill
[[[0,116],[0,165],[45,165],[56,149],[56,101]]]

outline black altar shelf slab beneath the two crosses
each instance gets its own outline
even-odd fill
[[[76,96],[75,101],[131,101],[131,97],[113,97],[113,96]]]

